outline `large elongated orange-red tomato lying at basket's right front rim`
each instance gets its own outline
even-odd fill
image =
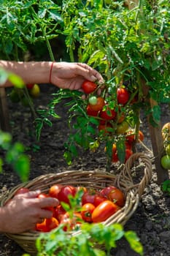
[[[104,222],[106,219],[115,214],[117,205],[109,200],[100,203],[92,213],[93,222]]]

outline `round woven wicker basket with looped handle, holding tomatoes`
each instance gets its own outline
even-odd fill
[[[138,163],[136,162],[138,161]],[[142,178],[138,183],[134,183],[134,179],[138,172],[135,171],[136,166],[140,165],[142,168]],[[109,219],[104,222],[104,225],[112,225],[113,223],[120,223],[125,225],[125,222],[134,214],[139,204],[140,197],[144,192],[144,187],[149,183],[152,177],[152,164],[150,159],[142,153],[133,154],[128,161],[123,165],[123,169],[120,170],[118,175],[113,175],[107,172],[101,171],[77,171],[69,170],[63,173],[50,173],[46,175],[34,178],[32,181],[28,181],[24,184],[20,184],[13,188],[9,195],[2,198],[1,206],[13,197],[15,191],[20,187],[28,187],[30,190],[41,189],[42,192],[48,192],[49,188],[53,184],[72,184],[76,186],[85,186],[88,188],[102,189],[104,187],[115,185],[122,189],[125,195],[125,206],[113,214]],[[81,232],[81,231],[80,231]],[[69,234],[74,235],[74,232]],[[16,243],[18,243],[26,252],[31,255],[36,255],[35,241],[39,236],[39,232],[30,231],[20,234],[9,234],[6,236]]]

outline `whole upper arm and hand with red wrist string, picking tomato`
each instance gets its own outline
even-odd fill
[[[85,80],[104,83],[99,72],[83,63],[0,60],[0,67],[19,75],[25,84],[53,83],[61,89],[82,91],[82,83]],[[0,86],[8,87],[12,86],[12,83],[7,80]]]

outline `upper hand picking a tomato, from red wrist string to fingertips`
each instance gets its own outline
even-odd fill
[[[82,91],[82,83],[85,80],[104,83],[101,74],[87,64],[53,62],[50,81],[55,86],[61,89]]]

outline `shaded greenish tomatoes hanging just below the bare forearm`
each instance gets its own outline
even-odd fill
[[[31,99],[39,97],[40,89],[39,85],[36,83],[29,83],[26,85],[26,88],[28,89],[28,94],[31,97]],[[12,102],[18,103],[21,102],[23,106],[28,107],[28,97],[24,93],[23,89],[13,88],[12,91],[9,94],[9,98]]]

